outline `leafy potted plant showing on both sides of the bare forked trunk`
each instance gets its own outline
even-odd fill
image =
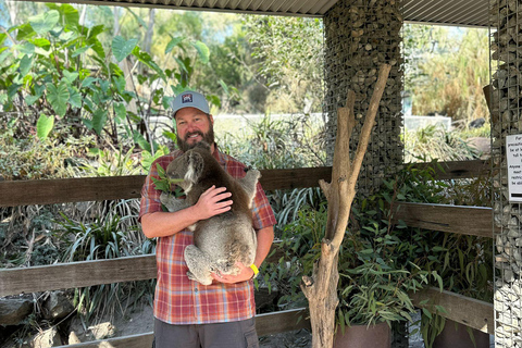
[[[406,226],[391,224],[386,199],[389,196],[377,195],[356,202],[360,209],[352,209],[338,257],[335,347],[389,347],[391,324],[411,321],[415,311],[408,293],[421,289],[430,275],[438,276],[409,258],[415,241],[400,239],[398,231]],[[321,204],[319,210],[302,210],[286,226],[282,246],[286,258],[279,268],[290,275],[290,286],[281,304],[306,303],[299,290],[300,274],[309,273],[319,258],[325,222],[326,209]]]

